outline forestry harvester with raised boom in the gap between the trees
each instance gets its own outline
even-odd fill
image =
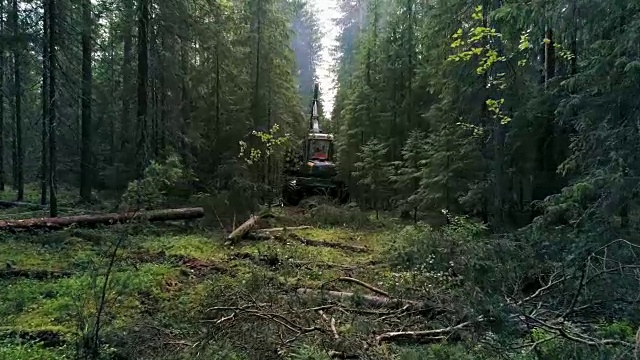
[[[334,162],[333,134],[320,130],[318,84],[315,84],[313,91],[309,132],[301,145],[302,156],[297,156],[285,171],[285,203],[295,206],[312,195],[330,196],[345,202],[348,195],[344,182],[338,178]]]

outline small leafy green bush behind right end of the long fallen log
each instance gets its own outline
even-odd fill
[[[188,172],[177,156],[170,156],[164,162],[152,161],[142,179],[129,183],[121,206],[128,211],[157,207],[166,199],[167,191],[187,176]]]

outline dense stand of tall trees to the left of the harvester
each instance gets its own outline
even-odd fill
[[[171,154],[209,188],[276,179],[278,159],[246,168],[239,142],[304,129],[320,52],[304,1],[1,5],[0,178],[18,200],[41,182],[43,203],[49,184],[92,201]]]

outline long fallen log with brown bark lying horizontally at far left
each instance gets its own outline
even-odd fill
[[[170,220],[191,220],[204,216],[203,208],[162,209],[152,211],[139,211],[128,213],[76,215],[57,218],[33,218],[23,220],[0,220],[0,231],[48,229],[58,230],[76,225],[80,227],[95,225],[114,225],[133,220],[146,220],[151,222]]]

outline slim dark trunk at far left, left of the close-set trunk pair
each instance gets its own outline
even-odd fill
[[[16,121],[16,182],[18,196],[17,200],[22,201],[24,199],[24,149],[22,144],[22,77],[20,73],[20,67],[22,60],[20,57],[20,27],[18,24],[18,0],[13,0],[13,62],[14,62],[14,89],[15,89],[15,121]]]

